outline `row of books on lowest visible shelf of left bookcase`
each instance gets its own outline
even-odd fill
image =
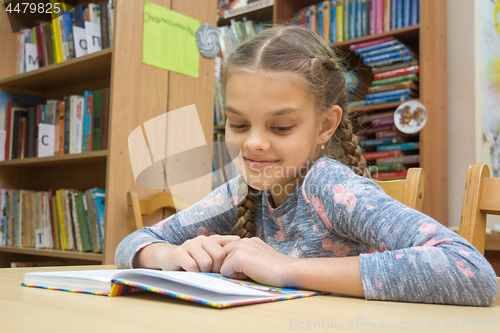
[[[105,191],[0,190],[0,246],[102,252]]]

